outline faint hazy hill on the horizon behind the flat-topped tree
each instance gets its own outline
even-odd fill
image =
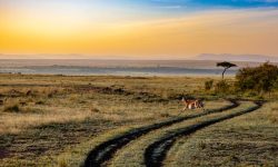
[[[278,62],[278,57],[270,57],[270,56],[264,56],[264,55],[202,53],[202,55],[197,56],[196,60]]]

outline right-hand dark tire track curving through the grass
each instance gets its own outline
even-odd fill
[[[227,116],[222,116],[219,118],[215,118],[215,119],[210,119],[207,121],[202,121],[182,129],[179,129],[177,131],[175,131],[173,134],[170,134],[166,137],[163,137],[162,139],[151,144],[145,151],[145,165],[147,167],[160,167],[162,166],[162,161],[167,156],[168,150],[170,149],[170,147],[173,145],[173,143],[181,136],[187,136],[190,134],[196,132],[197,130],[200,130],[202,128],[206,128],[208,126],[211,126],[214,124],[227,120],[227,119],[231,119],[251,111],[255,111],[257,109],[259,109],[264,102],[255,102],[256,106],[245,109],[242,111],[238,111],[235,114],[230,114]]]

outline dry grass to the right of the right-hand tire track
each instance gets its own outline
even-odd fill
[[[180,139],[166,166],[277,166],[277,102]]]

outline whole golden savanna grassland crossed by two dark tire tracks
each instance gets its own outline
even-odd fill
[[[93,151],[99,166],[150,166],[153,150],[165,166],[277,166],[277,92],[206,90],[211,79],[0,75],[0,166],[88,166]],[[180,112],[181,97],[206,110]]]

